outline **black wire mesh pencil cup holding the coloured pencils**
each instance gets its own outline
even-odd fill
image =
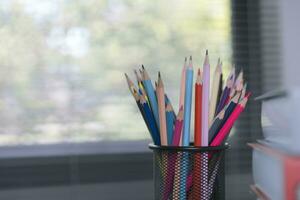
[[[156,200],[225,199],[225,152],[216,147],[149,145]]]

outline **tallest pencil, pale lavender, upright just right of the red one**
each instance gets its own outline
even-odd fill
[[[210,65],[208,60],[208,51],[206,50],[203,64],[203,93],[202,93],[202,146],[208,145],[208,115],[209,115],[209,82]]]

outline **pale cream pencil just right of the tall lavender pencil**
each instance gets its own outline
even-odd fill
[[[216,113],[221,75],[222,75],[222,64],[219,58],[217,67],[214,72],[213,82],[212,82],[211,97],[209,102],[209,124],[212,123],[212,120],[214,119]]]

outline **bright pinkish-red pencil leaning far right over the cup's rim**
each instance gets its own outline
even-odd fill
[[[221,130],[218,132],[217,136],[213,139],[211,146],[218,146],[224,142],[224,139],[229,134],[231,127],[233,126],[234,122],[237,120],[239,115],[245,109],[246,103],[248,101],[248,97],[245,97],[234,109],[226,123],[223,125]]]

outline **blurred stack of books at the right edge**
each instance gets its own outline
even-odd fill
[[[300,199],[300,133],[296,105],[300,91],[276,91],[262,101],[263,140],[252,147],[252,191],[258,199]],[[292,111],[292,112],[291,112]]]

